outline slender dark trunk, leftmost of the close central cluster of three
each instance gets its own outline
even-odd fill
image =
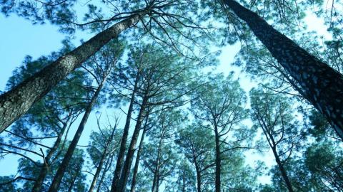
[[[131,115],[134,109],[134,98],[136,91],[138,89],[138,82],[139,82],[139,72],[136,74],[136,80],[134,81],[134,90],[132,91],[131,100],[129,104],[129,110],[127,111],[126,115],[126,122],[123,130],[123,136],[121,137],[120,149],[118,154],[118,159],[116,160],[116,169],[114,170],[114,178],[112,180],[111,191],[119,191],[119,180],[121,175],[122,164],[124,161],[124,155],[126,151],[126,142],[127,137],[129,135],[129,128],[131,122]]]

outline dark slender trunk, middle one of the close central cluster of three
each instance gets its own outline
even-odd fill
[[[114,188],[111,189],[111,192],[122,192],[125,191],[127,179],[129,178],[129,173],[131,169],[132,160],[134,159],[134,151],[136,147],[136,142],[139,137],[139,130],[141,128],[141,122],[144,118],[144,111],[146,107],[147,97],[144,96],[143,102],[141,103],[141,109],[139,110],[139,114],[137,117],[136,126],[134,127],[134,133],[132,134],[131,142],[129,145],[129,149],[126,154],[126,159],[124,162],[123,171],[121,171],[119,187],[114,191]]]

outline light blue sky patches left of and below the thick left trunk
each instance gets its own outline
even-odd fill
[[[57,51],[62,47],[61,41],[65,38],[63,34],[59,33],[56,26],[32,25],[30,21],[18,16],[4,17],[0,14],[0,28],[1,91],[4,91],[12,71],[22,65],[26,55],[31,55],[34,59],[41,55],[49,55],[52,51]],[[73,41],[75,45],[79,45],[81,38],[87,39],[90,36],[87,33],[76,34],[78,38]],[[92,122],[94,121],[90,121],[89,124]],[[74,133],[71,132],[69,135],[72,134]],[[86,136],[89,136],[89,132]],[[83,140],[83,144],[87,144],[86,139]],[[17,159],[17,156],[0,159],[0,176],[15,174]]]

